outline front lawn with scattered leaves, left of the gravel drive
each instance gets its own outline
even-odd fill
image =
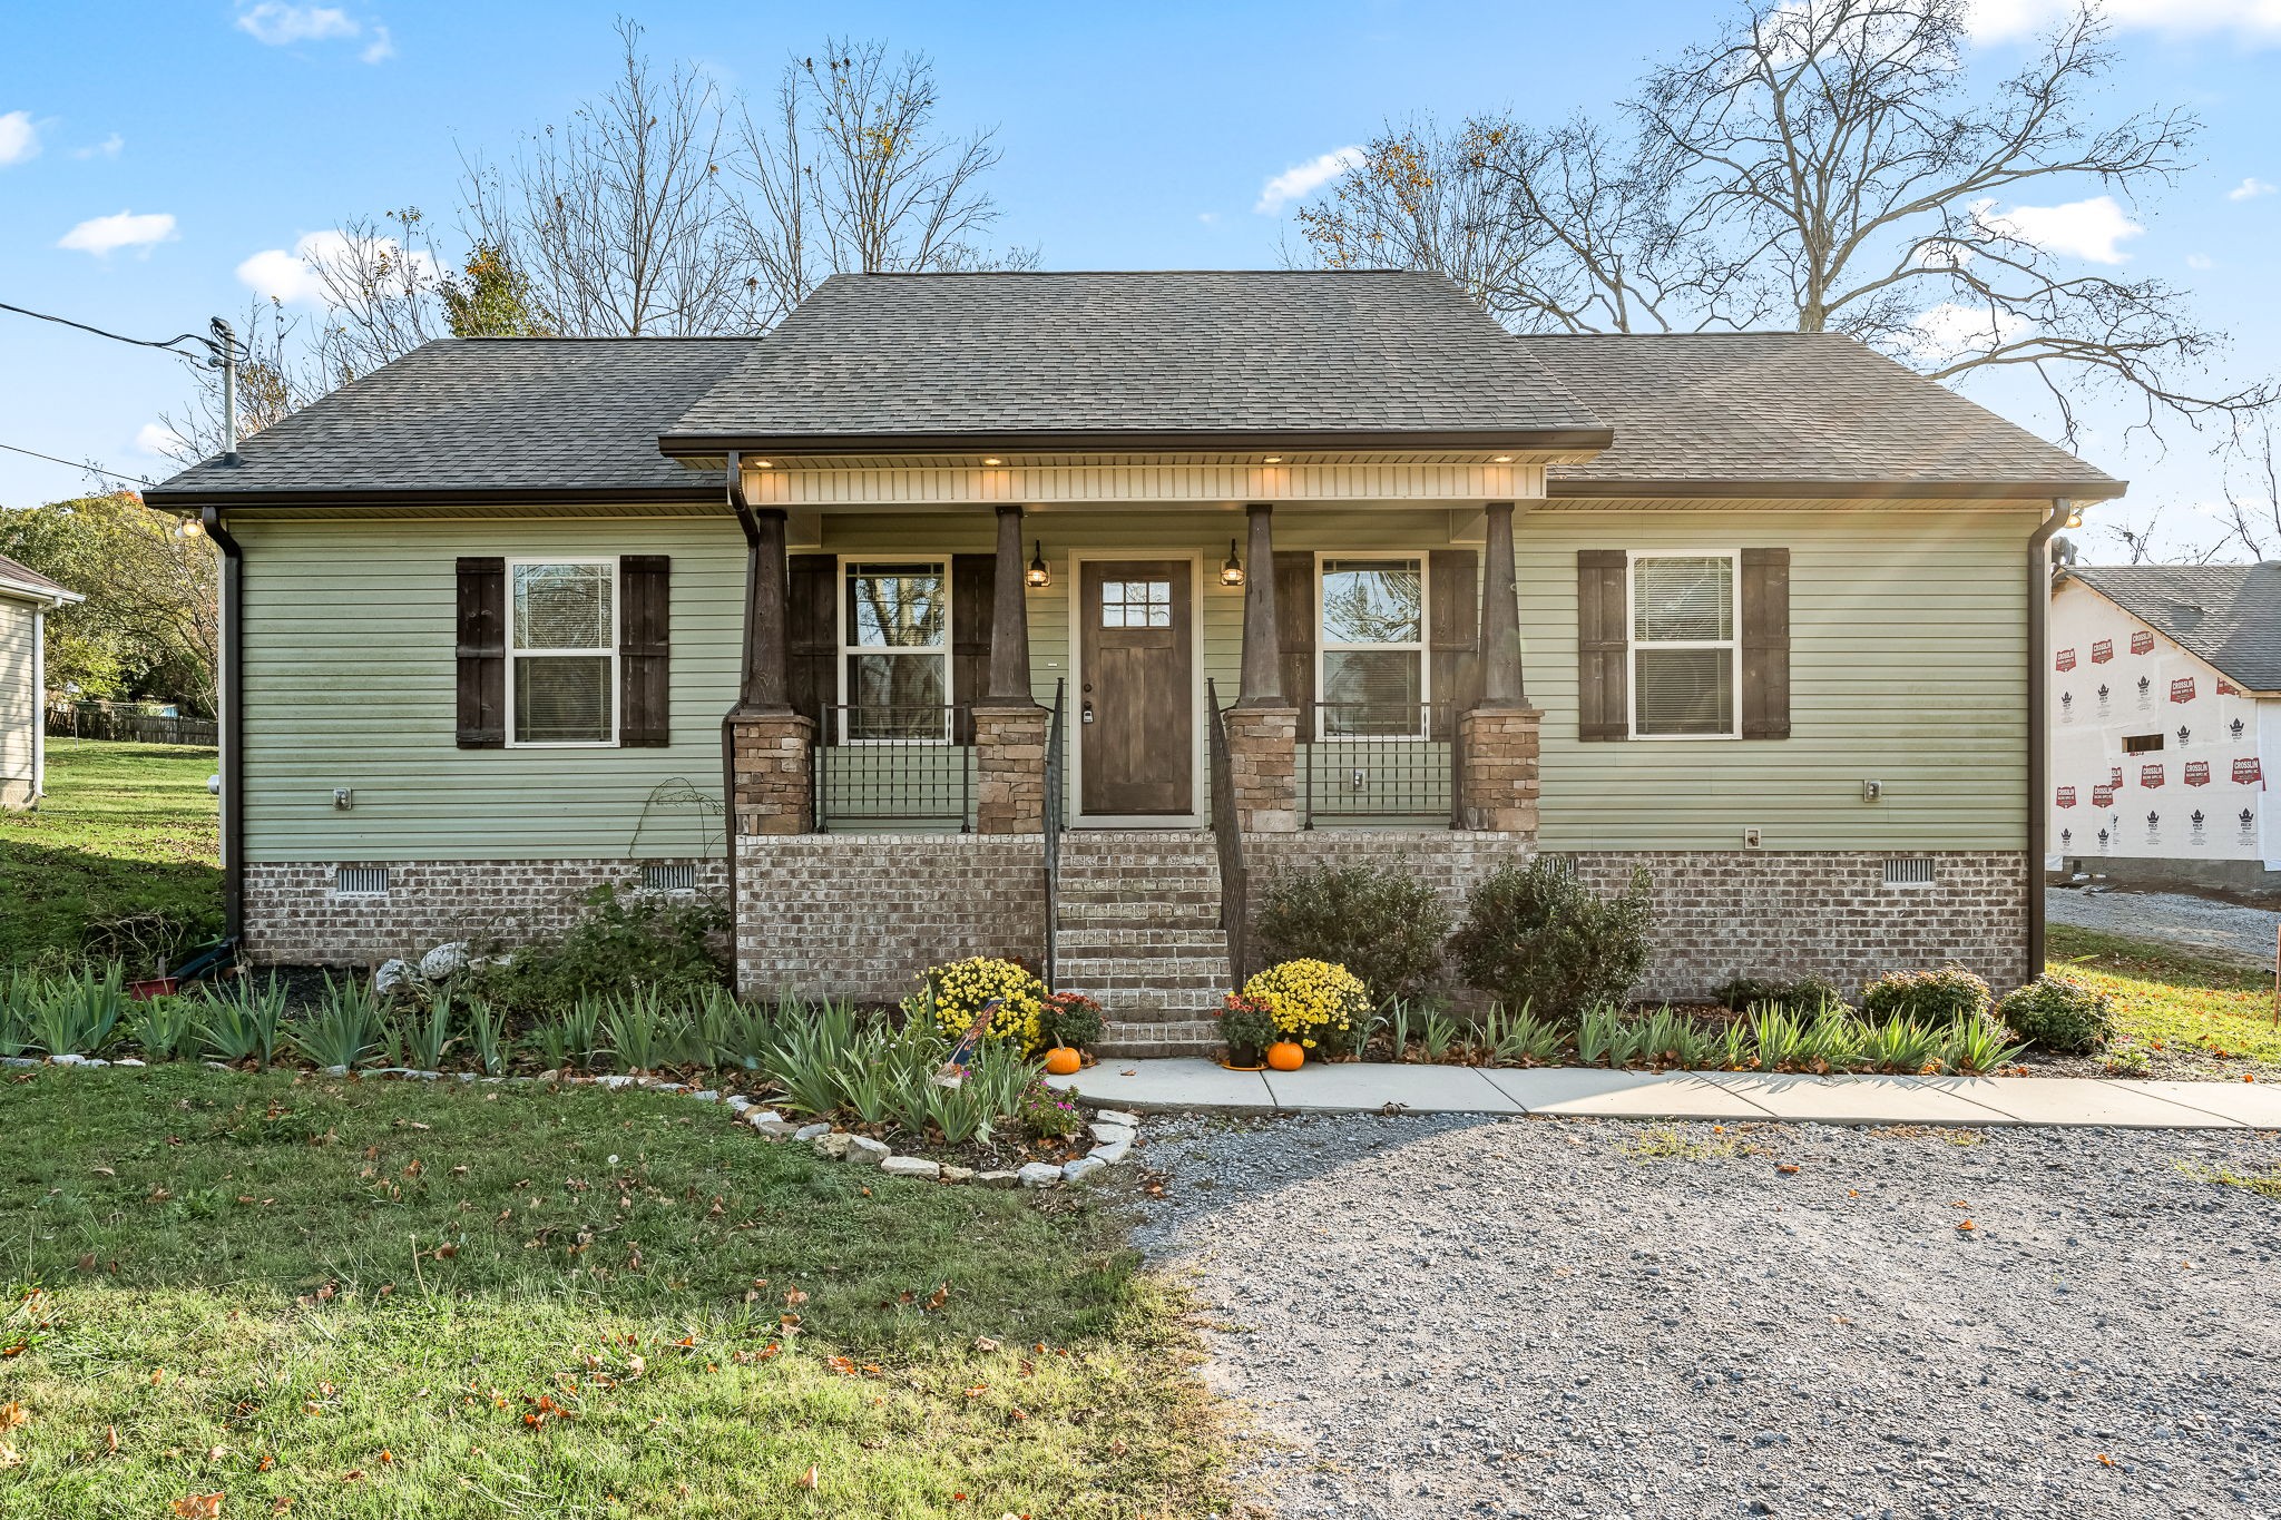
[[[7,1520],[1229,1511],[1099,1196],[586,1087],[48,1069],[0,1103]]]

